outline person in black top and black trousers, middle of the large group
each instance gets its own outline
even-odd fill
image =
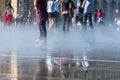
[[[69,32],[69,27],[71,26],[72,17],[74,16],[74,2],[72,0],[64,0],[62,2],[62,16],[63,16],[63,31]],[[67,26],[66,26],[67,25]]]

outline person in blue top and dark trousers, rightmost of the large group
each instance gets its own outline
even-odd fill
[[[87,24],[87,18],[89,20],[89,26],[93,29],[93,23],[92,23],[92,8],[93,8],[93,3],[94,0],[84,0],[83,4],[82,4],[82,8],[84,9],[83,11],[83,23],[84,23],[84,27],[86,28],[86,24]]]

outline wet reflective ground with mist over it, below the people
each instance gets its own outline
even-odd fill
[[[1,80],[118,80],[119,39],[114,29],[48,32],[36,46],[37,27],[0,29]],[[86,57],[84,69],[83,56]]]

